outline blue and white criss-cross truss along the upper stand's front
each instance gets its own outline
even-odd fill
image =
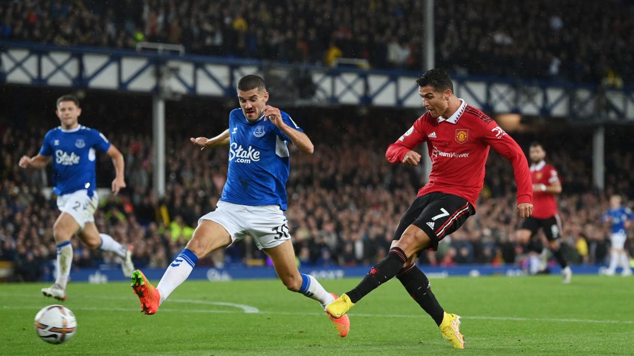
[[[240,77],[259,73],[276,96],[294,105],[421,107],[415,72],[11,41],[0,41],[0,61],[2,84],[233,98]],[[460,98],[489,113],[634,122],[634,88],[472,76],[453,80]]]

